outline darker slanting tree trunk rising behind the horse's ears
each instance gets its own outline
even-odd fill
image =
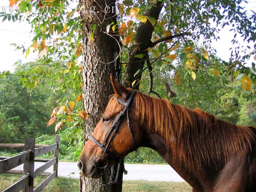
[[[146,10],[145,16],[150,16],[155,18],[155,20],[158,20],[159,14],[161,12],[163,5],[161,1],[157,1],[155,5],[152,5],[149,9]],[[148,59],[146,57],[147,55],[147,48],[151,47],[152,42],[152,34],[154,31],[154,26],[147,20],[147,22],[144,24],[140,22],[140,25],[136,31],[136,34],[133,39],[131,52],[128,60],[128,64],[126,65],[124,76],[122,80],[122,84],[126,87],[132,87],[132,82],[137,79],[138,81],[141,78],[141,73],[139,73],[136,78],[134,78],[134,74],[139,70],[142,69],[145,63],[145,59]],[[138,54],[144,54],[144,57],[142,59],[138,57],[134,57]],[[137,82],[138,82],[137,81]],[[133,87],[134,89],[139,89],[139,83]]]

